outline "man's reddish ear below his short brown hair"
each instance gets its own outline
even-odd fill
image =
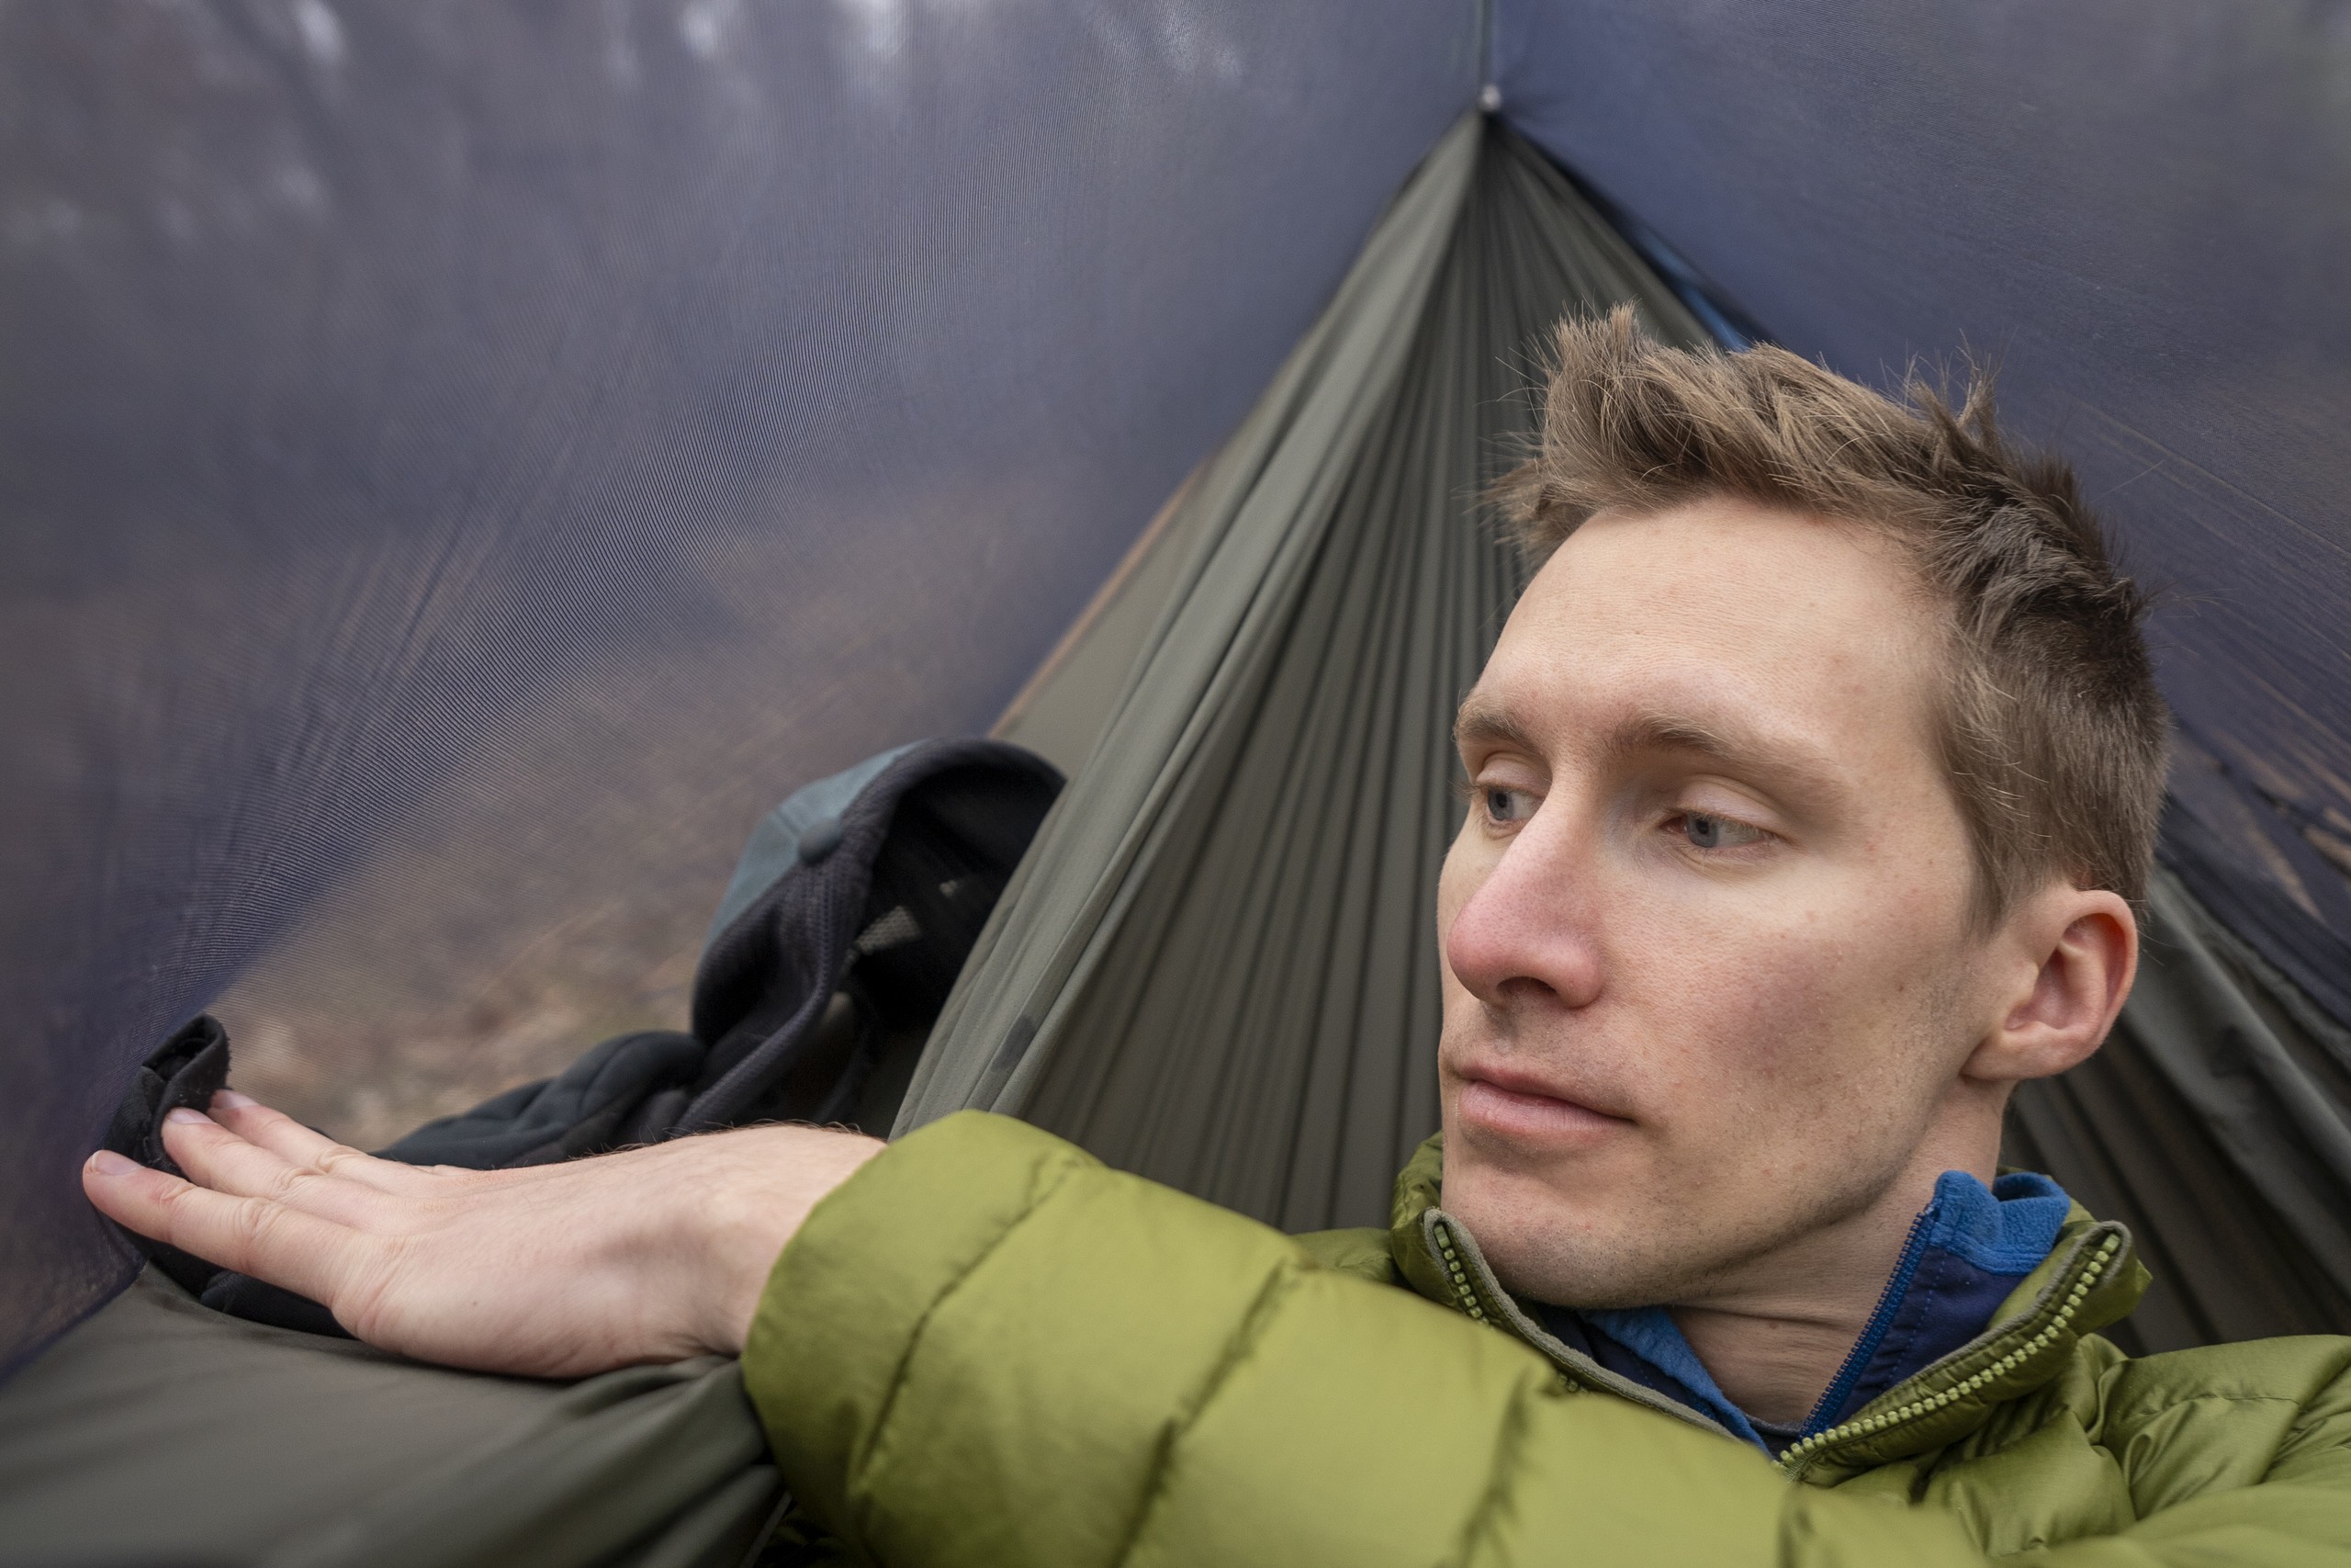
[[[2104,889],[2043,889],[2010,912],[1994,945],[2012,954],[2012,985],[1961,1067],[1980,1081],[2045,1079],[2085,1060],[2139,973],[2139,922]]]

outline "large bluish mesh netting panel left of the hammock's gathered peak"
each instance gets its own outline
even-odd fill
[[[0,1363],[125,1276],[75,1166],[240,971],[240,1084],[362,1143],[675,1025],[759,811],[987,724],[1474,40],[0,9]]]

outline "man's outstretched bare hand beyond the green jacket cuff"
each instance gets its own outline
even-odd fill
[[[882,1152],[759,1126],[522,1171],[402,1166],[226,1091],[209,1119],[165,1117],[162,1143],[193,1182],[101,1150],[89,1201],[369,1345],[538,1378],[741,1352],[783,1244]]]

